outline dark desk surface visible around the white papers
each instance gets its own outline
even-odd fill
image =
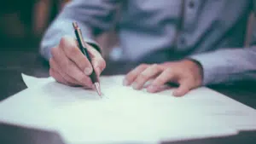
[[[125,74],[135,65],[108,62],[104,75]],[[49,66],[37,53],[30,52],[0,52],[0,101],[10,95],[14,95],[20,90],[26,89],[20,73],[36,77],[48,77]],[[228,95],[236,101],[246,104],[249,107],[256,108],[256,83],[241,82],[228,85],[212,85],[215,89],[224,95]],[[256,121],[256,119],[255,119]],[[227,122],[228,123],[228,122]],[[26,143],[26,144],[43,144],[55,143],[62,144],[61,138],[55,132],[32,130],[17,127],[9,124],[0,124],[0,143]],[[165,142],[164,142],[165,143]],[[215,144],[215,143],[256,143],[256,131],[244,131],[239,135],[171,142],[174,144]]]

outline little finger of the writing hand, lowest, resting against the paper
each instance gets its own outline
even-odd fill
[[[61,66],[59,66],[57,64],[57,62],[54,60],[54,58],[50,58],[49,59],[49,66],[50,66],[50,68],[53,69],[53,71],[58,72],[61,75],[61,77],[64,78],[67,81],[67,83],[72,84],[74,86],[75,85],[76,86],[77,85],[83,85],[79,81],[77,81],[76,79],[74,79],[74,78],[70,77],[69,75],[67,75],[66,72],[62,72],[61,71]]]

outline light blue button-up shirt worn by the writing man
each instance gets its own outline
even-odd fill
[[[253,0],[73,0],[49,26],[40,53],[79,22],[88,43],[116,26],[127,61],[161,62],[186,57],[203,67],[203,84],[256,80],[256,29],[252,48],[243,48]],[[121,8],[119,19],[117,8]],[[150,59],[154,57],[154,60]]]

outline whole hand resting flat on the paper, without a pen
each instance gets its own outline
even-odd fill
[[[142,64],[129,72],[124,79],[124,85],[131,85],[133,89],[143,89],[148,80],[153,82],[147,87],[147,91],[154,93],[168,82],[179,84],[173,91],[174,96],[182,96],[202,84],[202,68],[193,60],[181,60],[166,62],[163,64]]]

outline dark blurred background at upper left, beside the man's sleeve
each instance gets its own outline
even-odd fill
[[[38,51],[41,37],[62,0],[1,0],[0,51]]]

